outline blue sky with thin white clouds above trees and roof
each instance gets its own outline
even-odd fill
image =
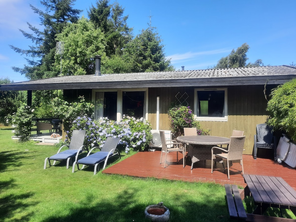
[[[113,1],[110,1],[112,3]],[[249,60],[262,59],[265,65],[296,63],[295,1],[167,1],[118,0],[128,26],[137,35],[152,26],[165,45],[165,54],[176,70],[207,69],[232,49],[247,43]],[[9,44],[28,49],[30,40],[18,29],[29,31],[26,22],[38,27],[40,20],[29,4],[42,9],[39,0],[0,0],[0,78],[27,80],[11,67],[27,64]],[[95,0],[77,0],[75,9],[86,10]]]

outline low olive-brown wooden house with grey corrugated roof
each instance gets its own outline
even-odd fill
[[[97,71],[96,71],[97,72]],[[95,103],[95,117],[143,117],[153,129],[168,130],[168,108],[179,101],[194,111],[210,135],[229,137],[233,129],[246,135],[244,154],[252,154],[256,124],[268,116],[270,92],[296,77],[296,67],[266,66],[60,76],[0,85],[1,90],[64,90],[68,101],[84,95]],[[30,96],[28,98],[30,103]]]

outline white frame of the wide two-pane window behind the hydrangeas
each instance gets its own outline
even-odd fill
[[[144,91],[144,121],[148,120],[148,88],[134,88],[134,89],[93,89],[92,90],[92,102],[95,103],[96,100],[96,92],[117,92],[117,115],[116,115],[116,121],[120,121],[122,119],[122,93],[130,92],[130,91]],[[97,118],[95,116],[95,118]]]

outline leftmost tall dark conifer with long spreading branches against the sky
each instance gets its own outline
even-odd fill
[[[27,22],[32,33],[20,30],[25,38],[32,40],[29,49],[21,49],[10,45],[17,53],[25,55],[28,65],[23,68],[13,67],[15,72],[24,74],[29,80],[53,77],[59,74],[55,62],[55,37],[61,33],[68,22],[75,23],[82,10],[73,9],[75,0],[41,0],[44,11],[30,4],[33,12],[39,15],[44,30],[39,30]]]

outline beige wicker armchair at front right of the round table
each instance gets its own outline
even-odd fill
[[[240,163],[242,165],[242,174],[244,174],[244,166],[242,163],[242,151],[244,150],[245,139],[246,139],[246,136],[230,137],[228,150],[224,150],[223,148],[220,148],[220,147],[213,147],[212,148],[212,173],[213,173],[213,158],[216,158],[216,159],[220,158],[220,159],[226,159],[226,161],[227,161],[228,179],[230,179],[229,161],[240,160]],[[214,154],[215,149],[221,150],[223,153]]]

